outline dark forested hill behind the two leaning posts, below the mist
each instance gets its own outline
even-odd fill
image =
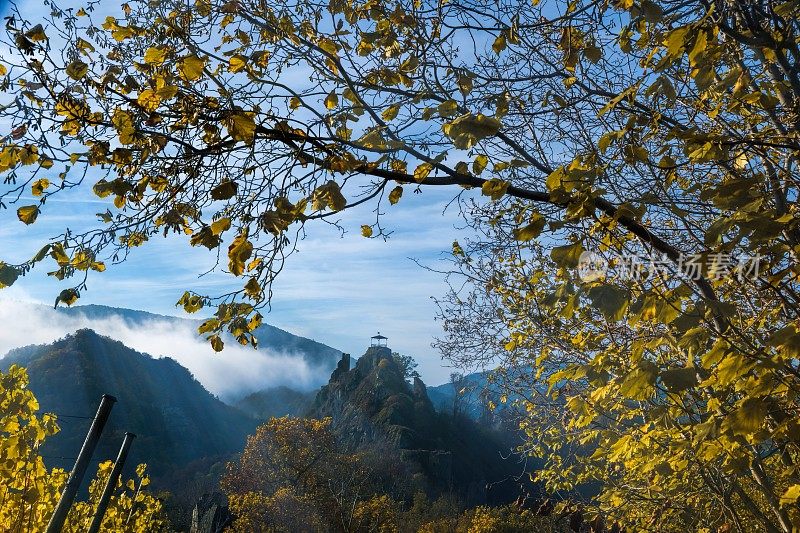
[[[13,350],[4,370],[28,369],[30,388],[44,412],[57,416],[61,432],[45,443],[50,464],[71,468],[89,420],[103,394],[117,398],[97,456],[113,459],[122,435],[137,435],[130,464],[146,462],[156,480],[198,459],[227,457],[242,448],[256,423],[213,397],[169,358],[154,359],[122,343],[80,330],[52,345]]]

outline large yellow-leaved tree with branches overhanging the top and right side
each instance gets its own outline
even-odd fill
[[[476,237],[452,246],[440,347],[499,365],[537,479],[571,498],[598,487],[587,511],[633,529],[789,533],[798,20],[795,0],[163,0],[17,17],[0,201],[22,224],[65,189],[109,204],[98,227],[0,264],[0,285],[47,264],[77,278],[57,300],[72,304],[103,257],[174,233],[236,279],[179,305],[215,310],[200,328],[215,349],[248,344],[307,224],[372,202],[357,227],[378,238],[404,191],[450,187]],[[607,272],[579,275],[587,257]],[[338,512],[317,489],[276,490],[264,508]]]

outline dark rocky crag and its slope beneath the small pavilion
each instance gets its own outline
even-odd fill
[[[398,450],[424,473],[434,492],[455,490],[472,504],[516,494],[516,487],[502,482],[519,474],[519,467],[503,460],[510,449],[500,436],[465,417],[437,413],[425,384],[419,378],[406,381],[389,348],[370,347],[352,368],[345,355],[317,393],[309,416],[331,417],[350,450]],[[491,492],[488,486],[494,487]]]

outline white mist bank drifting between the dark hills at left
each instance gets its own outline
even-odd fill
[[[3,298],[0,323],[0,354],[29,344],[51,343],[78,329],[91,328],[134,350],[154,357],[172,357],[222,398],[276,385],[309,390],[323,384],[330,372],[309,366],[298,354],[253,350],[233,343],[226,345],[222,353],[214,353],[189,321],[164,318],[136,325],[119,316],[89,320],[80,308],[63,313]]]

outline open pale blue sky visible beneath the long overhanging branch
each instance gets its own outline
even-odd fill
[[[0,6],[3,3],[0,0]],[[25,3],[19,5],[24,12]],[[0,128],[5,126],[0,124]],[[370,205],[342,215],[348,230],[344,236],[327,225],[310,224],[308,238],[300,243],[299,253],[289,258],[274,284],[271,311],[265,321],[354,356],[363,354],[369,338],[380,331],[393,350],[417,360],[427,383],[447,381],[451,369],[443,366],[431,347],[434,338],[442,334],[441,325],[434,321],[436,305],[432,297],[443,295],[446,286],[440,274],[417,262],[434,268],[443,266],[441,261],[453,240],[463,237],[457,228],[457,209],[445,210],[457,192],[446,189],[413,194],[406,187],[402,201],[386,208],[383,224],[394,231],[388,242],[365,239],[360,234],[360,225],[374,220],[374,206]],[[34,203],[33,198],[27,200],[23,199],[21,205]],[[108,206],[84,188],[78,195],[53,197],[31,226],[17,220],[16,206],[0,211],[0,260],[16,263],[28,259],[48,237],[60,234],[67,226],[96,220],[94,214]],[[189,247],[187,240],[183,236],[153,239],[135,249],[123,264],[109,264],[106,272],[90,277],[80,304],[187,316],[175,307],[184,290],[221,293],[240,286],[240,280],[222,273],[198,278],[198,273],[213,265],[215,256],[205,249]],[[48,277],[42,268],[0,291],[0,299],[52,305],[67,286]],[[224,359],[226,353],[218,357]]]

